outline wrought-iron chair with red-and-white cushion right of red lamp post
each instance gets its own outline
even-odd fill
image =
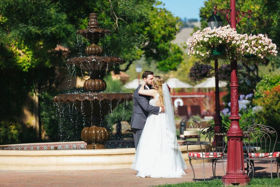
[[[275,145],[277,141],[277,132],[274,128],[261,125],[253,124],[243,129],[245,135],[244,144],[247,151],[247,174],[250,174],[250,168],[252,176],[255,176],[255,160],[262,160],[270,162],[270,174],[272,179],[272,167],[277,161],[277,177],[279,178],[279,167],[280,167],[280,151],[275,151]],[[274,136],[274,137],[273,137]],[[276,137],[275,137],[276,136]],[[275,138],[275,139],[274,139]],[[275,142],[273,143],[273,141]],[[272,162],[273,161],[273,162]]]

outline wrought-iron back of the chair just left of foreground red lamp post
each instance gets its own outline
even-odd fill
[[[217,128],[217,126],[219,127],[218,131],[215,129],[215,127]],[[225,134],[227,133],[227,130],[228,127],[223,124],[211,125],[202,129],[201,133],[199,134],[199,143],[201,149],[201,141],[209,144],[212,143],[212,146],[209,146],[208,148],[205,146],[205,148],[202,150],[204,152],[204,155],[207,152],[213,152],[213,154],[217,155],[224,154],[227,144],[225,142]],[[205,138],[202,135],[206,135]]]

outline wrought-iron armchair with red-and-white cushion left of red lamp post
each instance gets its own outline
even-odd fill
[[[219,131],[215,130],[215,127],[219,126]],[[221,125],[221,124],[216,124],[216,125],[211,125],[209,127],[205,127],[202,129],[202,131],[199,134],[199,143],[186,143],[187,145],[187,151],[188,151],[188,158],[189,158],[189,163],[190,167],[192,168],[193,172],[193,180],[195,181],[195,170],[192,166],[192,160],[195,159],[199,163],[200,167],[202,167],[201,163],[199,160],[202,160],[203,163],[203,174],[204,174],[204,181],[205,181],[205,165],[204,165],[204,160],[211,159],[212,160],[212,172],[214,178],[216,178],[216,162],[221,159],[222,160],[222,165],[223,165],[223,171],[225,173],[225,168],[223,164],[223,156],[225,153],[225,147],[227,143],[225,142],[225,134],[228,130],[228,127],[226,125]],[[203,136],[206,136],[203,138]],[[214,140],[215,136],[220,136],[220,138],[217,138],[216,143],[212,143]],[[200,141],[200,139],[203,138],[203,142]],[[205,148],[202,149],[202,144],[209,144],[209,148],[205,146]],[[190,152],[188,150],[188,145],[200,145],[200,152]]]

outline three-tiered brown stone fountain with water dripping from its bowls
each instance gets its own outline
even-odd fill
[[[100,56],[104,50],[98,45],[99,39],[111,31],[99,28],[96,13],[91,13],[89,18],[88,28],[76,32],[88,39],[91,44],[85,48],[88,57],[67,60],[67,64],[75,64],[88,72],[90,78],[84,82],[83,88],[89,93],[58,95],[53,98],[53,102],[74,104],[91,124],[81,131],[81,138],[87,143],[87,149],[104,149],[104,144],[110,138],[110,131],[106,127],[101,127],[104,116],[111,113],[118,104],[132,100],[132,94],[100,93],[106,89],[106,82],[103,80],[106,71],[115,63],[123,63],[123,60],[118,57]]]

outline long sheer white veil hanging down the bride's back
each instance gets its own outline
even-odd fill
[[[177,135],[176,125],[174,118],[173,104],[169,92],[169,88],[166,83],[162,84],[163,100],[164,100],[164,115],[166,119],[166,131],[168,144],[170,148],[177,149]]]

